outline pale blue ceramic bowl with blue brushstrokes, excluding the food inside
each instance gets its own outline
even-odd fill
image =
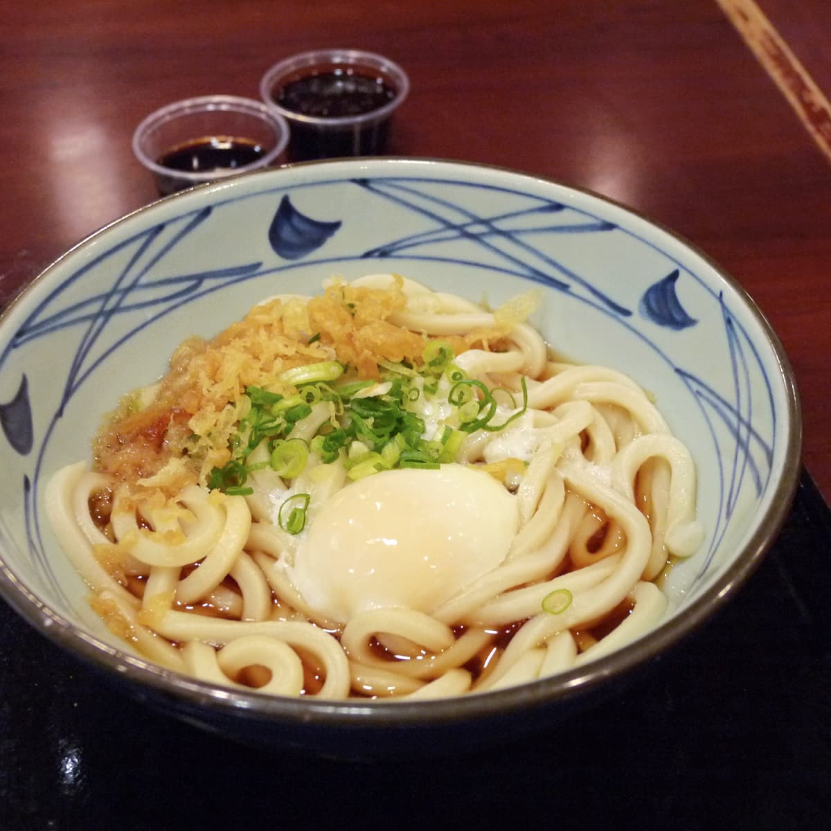
[[[699,553],[666,582],[654,631],[559,676],[443,701],[270,697],[179,676],[91,611],[43,509],[89,458],[101,415],[275,293],[397,272],[534,317],[574,360],[652,390],[698,470]],[[784,351],[706,256],[618,204],[531,175],[433,160],[337,160],[204,185],[101,229],[40,275],[0,325],[0,591],[46,637],[152,706],[248,741],[330,755],[460,749],[572,715],[654,664],[750,576],[787,513],[800,418]],[[714,623],[717,625],[717,622]]]

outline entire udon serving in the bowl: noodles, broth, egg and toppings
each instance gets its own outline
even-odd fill
[[[532,295],[395,275],[273,297],[189,338],[47,510],[137,652],[280,696],[457,696],[649,631],[701,543],[651,396],[555,360]]]

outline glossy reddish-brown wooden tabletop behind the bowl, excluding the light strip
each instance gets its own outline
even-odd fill
[[[827,3],[758,0],[831,91]],[[391,153],[505,165],[642,211],[721,263],[793,362],[831,497],[831,160],[715,0],[0,0],[0,300],[155,198],[151,110],[258,97],[268,66],[354,46],[412,82]]]

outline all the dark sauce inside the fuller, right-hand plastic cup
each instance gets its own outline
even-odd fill
[[[291,120],[289,155],[294,161],[338,156],[375,155],[386,148],[389,119],[363,118],[393,101],[398,94],[381,76],[352,66],[312,70],[273,86],[278,106],[315,123]],[[355,118],[354,124],[326,119]]]

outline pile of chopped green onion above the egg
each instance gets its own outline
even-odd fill
[[[422,357],[424,364],[419,363],[418,368],[409,361],[380,361],[380,382],[356,381],[354,369],[348,365],[318,361],[283,371],[268,383],[278,389],[287,387],[288,392],[246,387],[237,406],[237,430],[229,440],[231,461],[211,471],[210,487],[231,494],[249,493],[246,477],[266,466],[286,479],[295,479],[306,469],[310,452],[324,464],[341,459],[351,479],[394,468],[435,470],[455,462],[467,435],[477,430],[503,430],[528,410],[523,378],[521,410],[503,424],[494,425],[499,411],[497,396],[515,409],[515,393],[502,387],[490,390],[482,381],[468,377],[452,362],[454,351],[448,342],[425,342]],[[292,387],[296,391],[290,391]],[[455,408],[452,420],[440,425],[432,440],[425,440],[425,419],[419,411],[422,406],[425,412],[430,411],[434,396],[445,395]],[[306,419],[312,407],[322,401],[327,402],[328,419],[317,434],[308,441],[292,439],[297,422]],[[248,456],[263,441],[268,461],[259,457],[246,465]],[[295,509],[302,509],[302,505],[293,504],[283,512],[285,524],[302,527],[303,511],[292,514]]]

